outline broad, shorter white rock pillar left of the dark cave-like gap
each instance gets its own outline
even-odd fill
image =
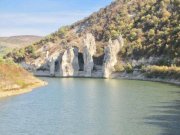
[[[63,56],[60,65],[60,76],[77,76],[79,71],[78,49],[70,47]]]

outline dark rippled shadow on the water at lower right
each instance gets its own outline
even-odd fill
[[[163,102],[161,106],[152,107],[160,114],[145,118],[145,123],[162,128],[161,135],[180,135],[180,92],[177,94],[179,100]]]

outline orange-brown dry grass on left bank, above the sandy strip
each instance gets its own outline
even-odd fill
[[[38,82],[38,79],[20,66],[12,62],[0,61],[0,90],[25,88]]]

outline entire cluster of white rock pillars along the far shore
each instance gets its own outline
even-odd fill
[[[68,47],[63,51],[49,52],[45,51],[44,64],[40,71],[47,72],[50,76],[61,77],[104,77],[109,78],[114,71],[117,63],[117,54],[124,45],[122,36],[116,40],[109,40],[109,44],[104,49],[104,55],[100,58],[100,64],[93,61],[96,54],[96,42],[92,34],[86,34],[83,40],[83,50],[79,53],[77,47]],[[68,45],[69,46],[69,45]],[[103,60],[102,60],[103,59]],[[96,64],[94,64],[96,62]],[[42,62],[37,62],[41,64]],[[81,65],[81,69],[80,66]],[[43,73],[43,74],[44,74]]]

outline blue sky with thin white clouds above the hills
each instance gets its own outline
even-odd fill
[[[48,35],[110,4],[112,0],[0,0],[0,37]]]

